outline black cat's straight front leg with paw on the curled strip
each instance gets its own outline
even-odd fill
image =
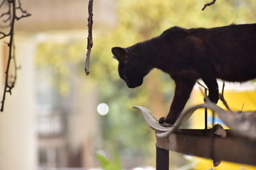
[[[187,103],[190,93],[195,85],[195,80],[175,80],[175,94],[166,118],[160,118],[159,124],[174,124]]]

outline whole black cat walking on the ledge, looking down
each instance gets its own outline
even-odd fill
[[[175,95],[166,118],[174,124],[189,99],[196,80],[209,88],[218,102],[216,78],[248,81],[256,78],[256,24],[228,25],[210,29],[172,27],[160,36],[128,48],[114,47],[118,72],[129,88],[138,87],[151,69],[161,69],[175,81]]]

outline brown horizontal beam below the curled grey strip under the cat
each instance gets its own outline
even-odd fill
[[[220,138],[212,130],[179,129],[166,138],[156,138],[156,146],[186,155],[256,166],[256,141],[226,131],[227,138]]]

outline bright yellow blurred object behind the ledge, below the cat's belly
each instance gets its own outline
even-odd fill
[[[219,88],[221,91],[221,83],[219,83]],[[247,85],[248,86],[248,85]],[[252,83],[253,86],[253,83]],[[224,90],[224,97],[225,100],[228,103],[228,106],[233,111],[252,111],[256,110],[256,91],[251,89],[241,89],[243,88],[243,84],[234,85],[232,87],[228,87],[227,90]],[[199,87],[194,88],[193,93],[191,94],[190,104],[200,104],[204,103],[204,94],[199,90]],[[218,106],[221,108],[225,108],[223,103],[221,101],[218,101]],[[226,109],[226,108],[225,108]],[[204,109],[197,110],[190,118],[191,120],[191,129],[204,129]],[[208,110],[208,127],[212,127],[212,111]],[[225,129],[228,127],[223,124],[223,122],[216,116],[215,118],[215,124],[219,123],[223,125]],[[196,170],[205,170],[205,169],[211,169],[214,170],[221,170],[221,169],[232,169],[232,170],[241,170],[241,169],[254,169],[256,170],[256,166],[248,166],[244,164],[236,164],[232,162],[225,162],[221,161],[220,166],[213,167],[212,160],[210,159],[202,159],[199,157],[196,157],[198,160],[196,163]]]

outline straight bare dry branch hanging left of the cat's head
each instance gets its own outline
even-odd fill
[[[87,38],[87,53],[86,53],[86,61],[85,61],[85,68],[84,71],[86,75],[90,73],[89,67],[90,67],[90,55],[92,52],[92,46],[93,46],[93,41],[92,41],[92,24],[93,24],[93,0],[89,0],[88,4],[88,38]]]

